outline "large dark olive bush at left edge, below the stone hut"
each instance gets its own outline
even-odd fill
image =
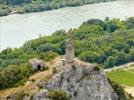
[[[31,74],[30,66],[9,66],[0,72],[0,89],[23,84]]]

